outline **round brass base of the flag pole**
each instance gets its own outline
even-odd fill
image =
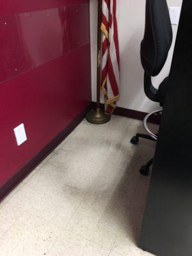
[[[111,120],[111,115],[107,115],[100,108],[92,109],[86,114],[86,120],[91,124],[106,124]]]

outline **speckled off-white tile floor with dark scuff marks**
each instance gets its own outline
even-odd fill
[[[153,125],[154,129],[157,129]],[[137,247],[155,143],[140,121],[85,120],[0,204],[1,256],[149,256]]]

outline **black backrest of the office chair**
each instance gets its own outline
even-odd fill
[[[166,0],[147,0],[141,63],[148,76],[157,76],[172,45],[172,24]]]

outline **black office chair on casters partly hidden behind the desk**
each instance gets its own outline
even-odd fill
[[[159,102],[163,107],[168,77],[159,85],[158,90],[154,88],[151,77],[161,72],[172,45],[172,24],[166,0],[147,0],[145,16],[145,35],[141,42],[141,63],[145,70],[144,90],[148,99]],[[138,144],[139,138],[157,141],[157,134],[148,129],[147,120],[152,115],[161,115],[161,111],[154,111],[145,117],[143,122],[148,134],[136,134],[131,139],[132,144]],[[147,164],[141,166],[141,174],[148,175],[152,163],[153,159],[150,159]]]

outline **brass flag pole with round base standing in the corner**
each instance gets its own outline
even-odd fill
[[[102,51],[102,0],[98,0],[98,28],[97,28],[97,108],[90,110],[86,115],[86,120],[92,124],[105,124],[111,120],[111,115],[106,115],[100,109],[100,72],[101,72],[101,51]]]

